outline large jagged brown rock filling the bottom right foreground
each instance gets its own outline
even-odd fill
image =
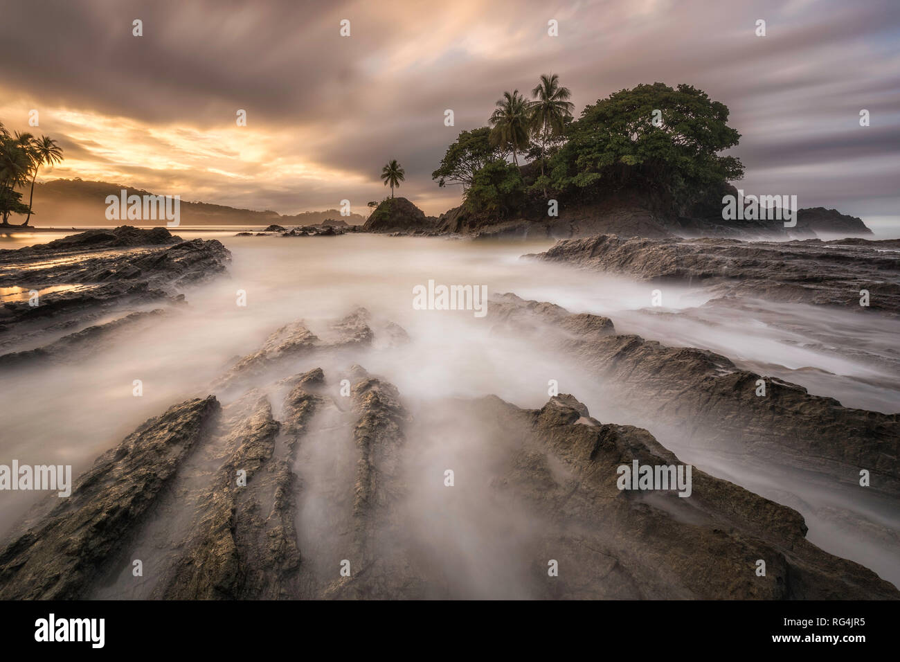
[[[805,539],[800,514],[693,467],[691,493],[620,490],[618,467],[677,466],[647,431],[600,423],[571,395],[540,410],[479,407],[524,442],[495,481],[540,513],[533,590],[544,598],[897,599],[875,573]],[[562,466],[561,466],[562,465]],[[540,558],[540,557],[538,557]],[[756,575],[756,562],[766,575]]]

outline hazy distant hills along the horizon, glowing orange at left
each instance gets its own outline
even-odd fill
[[[34,185],[34,215],[31,216],[31,224],[39,227],[109,225],[111,222],[105,216],[106,196],[120,195],[123,188],[128,191],[128,195],[166,195],[133,186],[80,178],[38,182]],[[181,225],[317,225],[329,220],[345,221],[350,225],[365,223],[365,217],[361,214],[341,216],[337,209],[283,215],[272,210],[259,212],[225,204],[187,202],[184,199],[181,200],[180,212]],[[12,222],[22,221],[14,219]],[[137,223],[141,224],[140,221]]]

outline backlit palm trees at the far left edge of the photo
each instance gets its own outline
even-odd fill
[[[9,227],[13,213],[27,213],[22,226],[31,220],[31,202],[34,196],[34,180],[44,163],[53,165],[62,160],[62,150],[47,136],[35,139],[31,133],[14,135],[0,122],[0,226]],[[31,200],[23,204],[22,194],[15,189],[31,182]]]

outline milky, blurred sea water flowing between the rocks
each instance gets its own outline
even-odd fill
[[[298,360],[293,372],[323,367],[329,384],[335,385],[350,365],[359,363],[397,385],[413,416],[408,431],[408,446],[416,455],[413,465],[441,468],[447,458],[454,458],[456,466],[470,467],[474,475],[483,473],[480,465],[488,450],[482,447],[488,442],[477,434],[476,422],[460,420],[464,408],[448,415],[447,399],[496,394],[520,407],[537,408],[548,399],[548,380],[555,379],[561,393],[575,395],[599,421],[647,427],[682,461],[797,508],[806,517],[809,539],[823,549],[900,583],[900,515],[887,505],[834,493],[781,463],[767,466],[766,458],[746,467],[726,455],[699,452],[690,440],[674,438],[665,427],[620,410],[609,397],[615,385],[598,383],[577,365],[525,339],[491,332],[490,304],[485,317],[472,311],[414,310],[412,290],[429,279],[444,285],[484,285],[490,294],[512,292],[573,313],[606,315],[618,332],[711,349],[739,367],[779,376],[848,406],[887,413],[895,412],[900,402],[896,320],[863,320],[857,312],[801,304],[704,306],[710,298],[704,289],[671,285],[662,287],[662,307],[653,307],[657,286],[521,258],[549,248],[551,240],[480,242],[369,234],[235,237],[234,230],[178,234],[225,243],[233,256],[229,273],[186,290],[187,304],[174,314],[129,332],[77,365],[0,375],[6,404],[0,416],[3,461],[70,464],[77,475],[141,422],[172,404],[208,394],[211,382],[235,358],[257,350],[284,323],[302,319],[319,331],[329,318],[362,305],[377,319],[400,324],[410,344],[390,347],[376,340],[373,348],[352,355]],[[55,238],[14,237],[3,240],[0,248]],[[238,290],[246,292],[246,306],[238,306]],[[22,293],[0,295],[8,301],[12,298],[5,297]],[[141,397],[132,395],[136,379],[143,384]],[[317,434],[328,437],[330,429],[344,424],[320,422]],[[327,472],[337,471],[317,459],[316,448],[316,443],[309,444],[307,464],[298,467],[310,489],[300,508],[300,523],[307,526],[298,531],[307,531],[301,535],[309,544],[314,544],[309,531],[314,530],[317,512],[328,507],[326,487],[335,482]],[[35,493],[9,496],[0,513],[0,535],[40,498]],[[427,496],[423,501],[427,503]],[[457,551],[464,556],[464,549]],[[446,554],[455,558],[450,551]]]

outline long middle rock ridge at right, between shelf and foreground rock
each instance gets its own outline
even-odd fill
[[[825,485],[900,495],[900,415],[844,407],[802,386],[741,370],[718,354],[620,335],[607,318],[501,295],[489,306],[496,332],[530,333],[600,382],[638,420],[665,424],[698,448],[748,458],[783,458]],[[757,395],[760,381],[765,395]]]

